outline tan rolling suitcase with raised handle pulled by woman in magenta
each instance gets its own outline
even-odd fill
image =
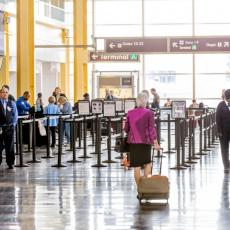
[[[162,151],[163,152],[163,151]],[[152,154],[152,162],[153,162],[154,152]],[[138,184],[138,196],[140,204],[142,204],[142,200],[159,200],[165,199],[168,203],[169,198],[169,180],[166,176],[161,176],[161,168],[162,168],[162,157],[163,153],[161,153],[160,157],[160,172],[159,175],[152,175],[151,177],[141,177],[140,182]],[[152,169],[151,169],[152,174]]]

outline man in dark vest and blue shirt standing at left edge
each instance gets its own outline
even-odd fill
[[[9,91],[2,88],[0,91],[0,164],[2,151],[5,148],[6,163],[13,169],[14,155],[14,128],[18,120],[18,112],[14,101],[9,100]]]

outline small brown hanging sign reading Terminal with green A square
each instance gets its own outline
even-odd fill
[[[104,52],[89,52],[90,62],[138,62],[140,55],[131,54],[112,54]]]

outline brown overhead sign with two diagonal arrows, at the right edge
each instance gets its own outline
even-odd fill
[[[170,38],[170,52],[230,52],[230,37]]]

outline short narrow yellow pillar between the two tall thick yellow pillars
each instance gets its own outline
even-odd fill
[[[62,43],[69,45],[69,31],[62,29]],[[70,74],[69,74],[69,62],[70,52],[69,48],[65,48],[65,63],[60,64],[60,86],[67,98],[70,98]]]

